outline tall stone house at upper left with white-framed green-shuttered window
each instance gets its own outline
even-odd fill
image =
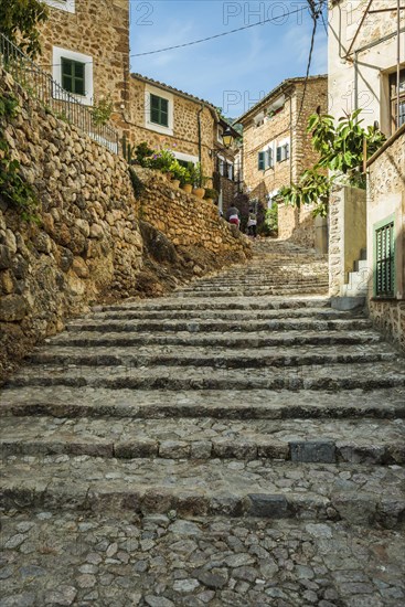
[[[114,102],[113,118],[126,130],[129,103],[129,0],[44,0],[36,63],[82,104]]]

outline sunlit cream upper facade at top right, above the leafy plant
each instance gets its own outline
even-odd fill
[[[387,6],[388,4],[388,6]],[[362,108],[365,125],[379,121],[390,137],[396,130],[397,26],[401,35],[399,114],[405,121],[405,11],[396,2],[333,0],[328,38],[329,113],[339,118]],[[386,11],[392,8],[392,11]],[[384,12],[371,12],[383,9]]]

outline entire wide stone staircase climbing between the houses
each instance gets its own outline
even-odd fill
[[[404,361],[324,258],[254,248],[3,388],[0,607],[405,604]]]

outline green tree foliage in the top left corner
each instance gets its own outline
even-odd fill
[[[38,25],[46,21],[47,7],[40,0],[1,0],[0,32],[34,57],[41,53]]]

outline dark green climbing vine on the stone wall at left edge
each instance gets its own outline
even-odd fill
[[[24,221],[38,221],[38,200],[33,188],[21,173],[20,162],[12,158],[4,136],[4,126],[19,113],[18,99],[12,94],[0,94],[0,198],[15,206]]]

